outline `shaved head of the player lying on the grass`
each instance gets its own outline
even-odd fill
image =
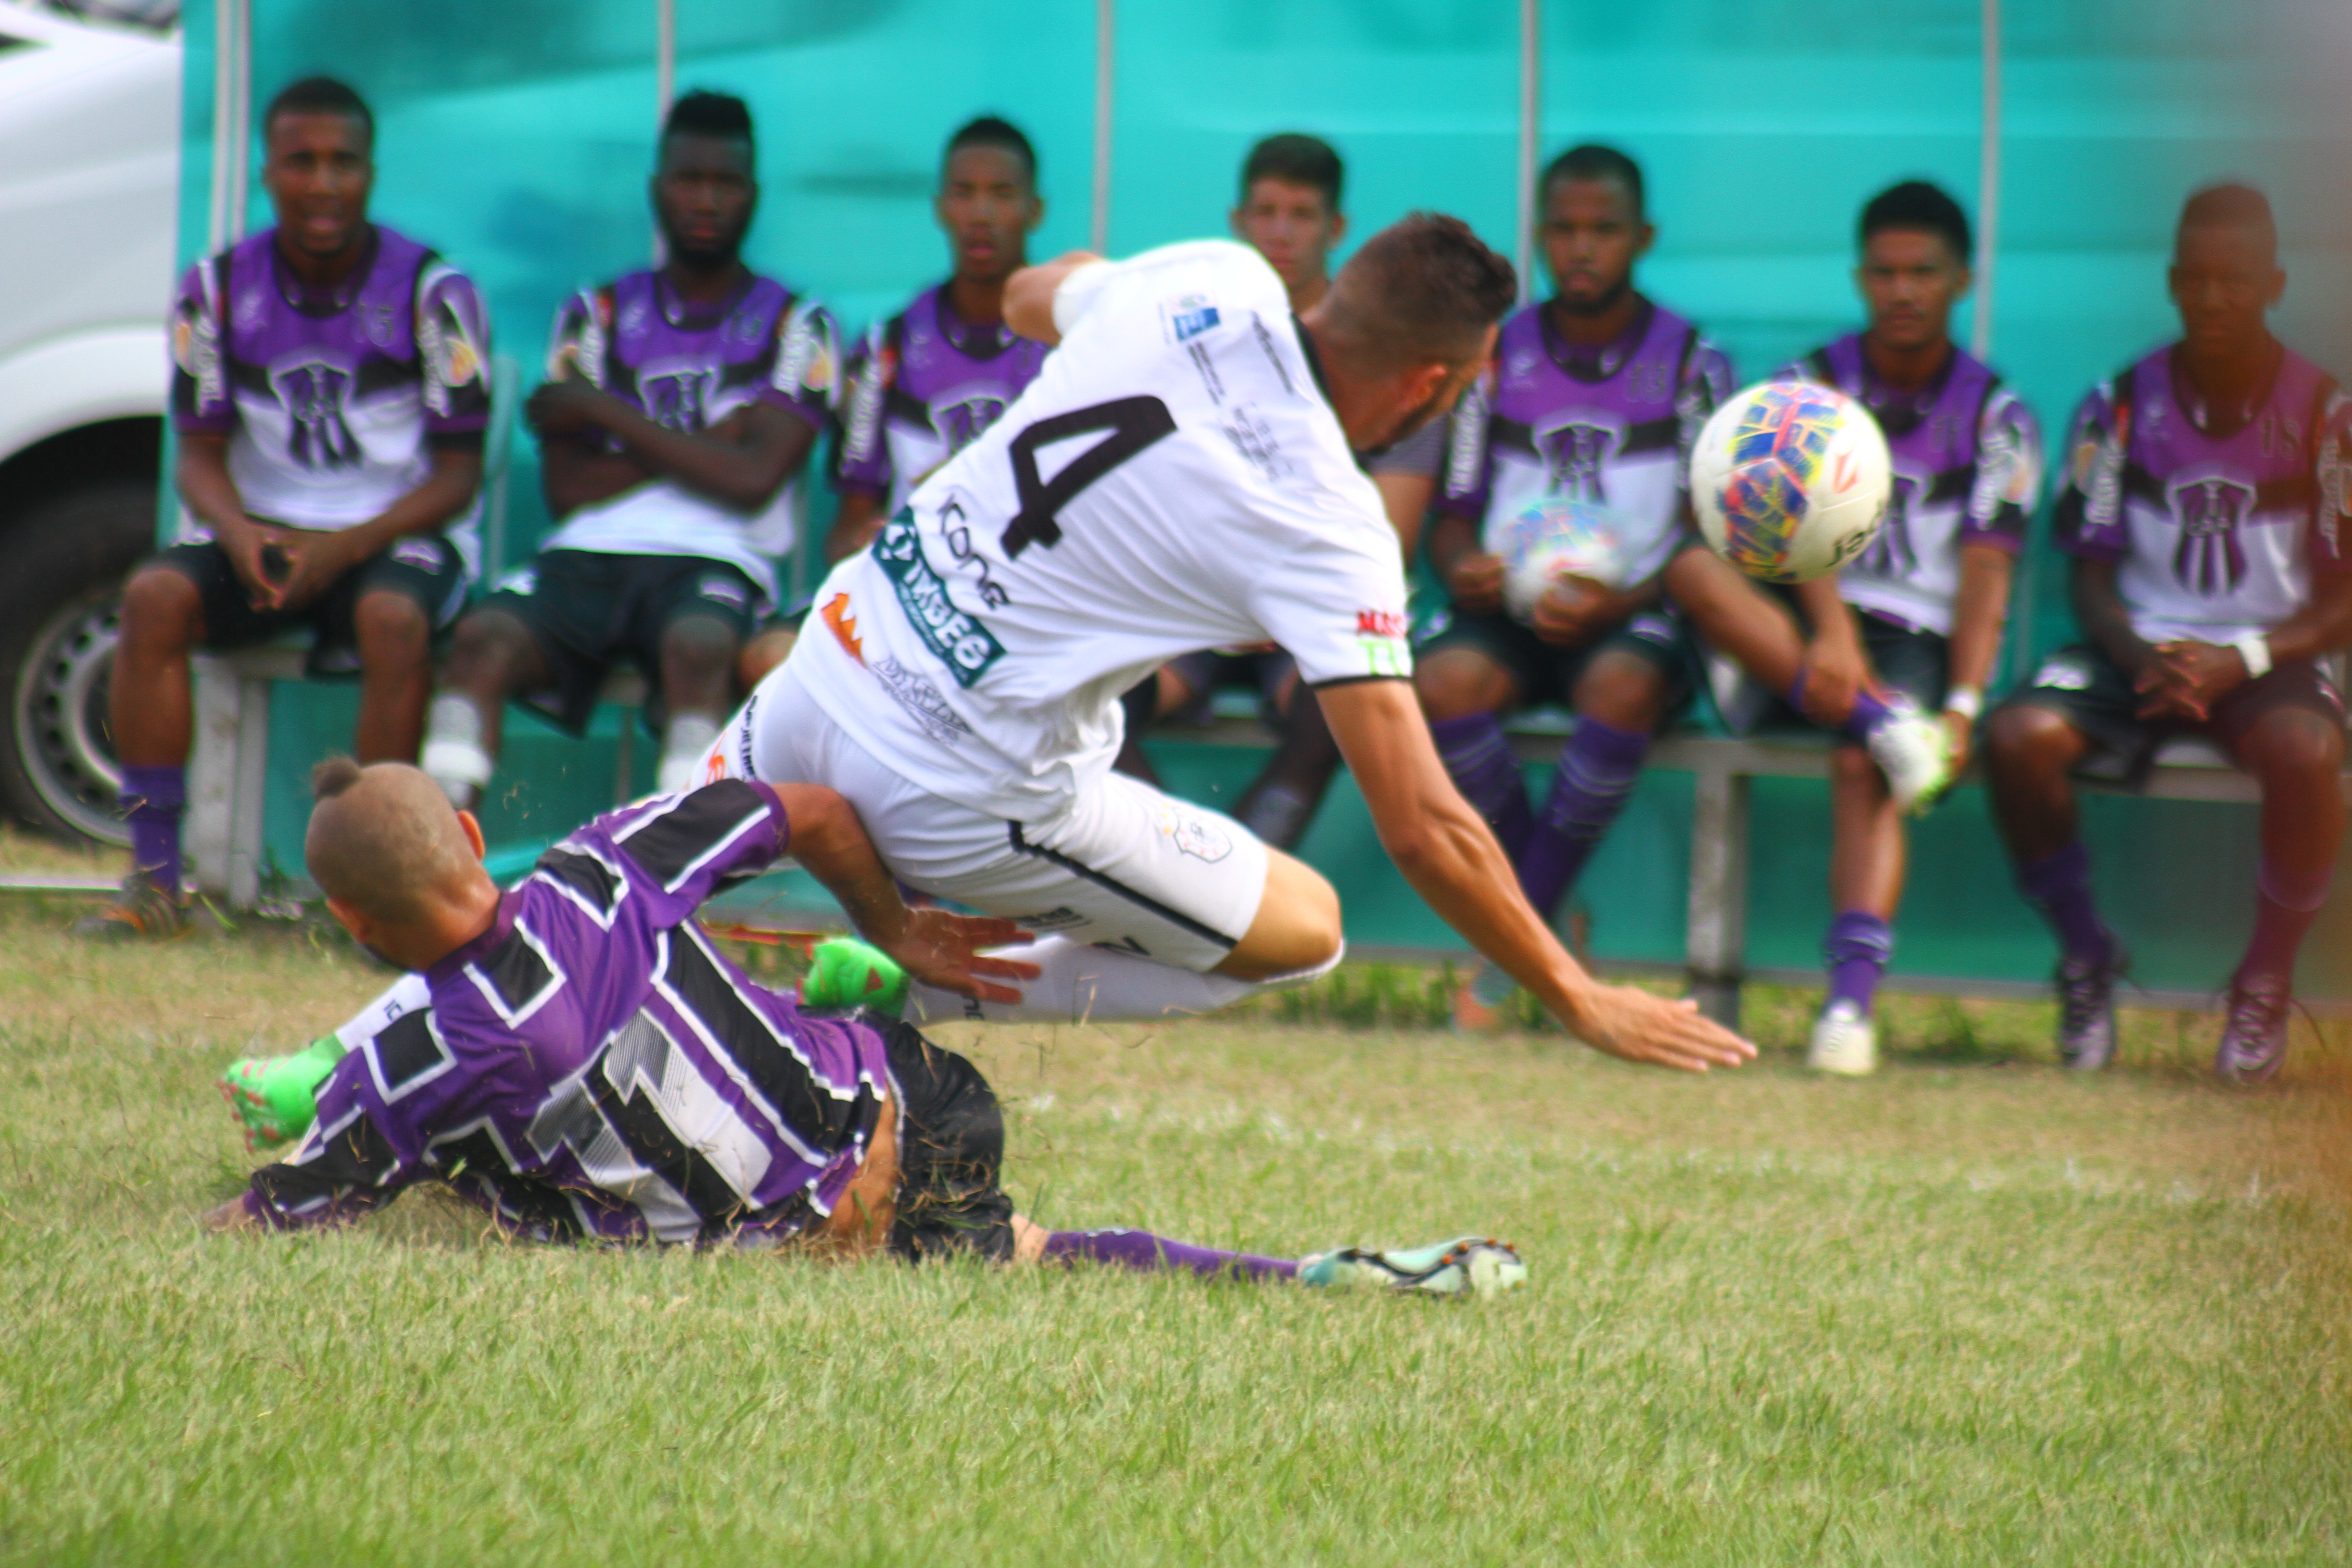
[[[310,771],[310,879],[372,922],[407,926],[466,898],[487,872],[449,797],[405,762],[329,757]]]

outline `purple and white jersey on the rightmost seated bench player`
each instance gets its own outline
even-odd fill
[[[2147,642],[2234,642],[2352,571],[2352,402],[2279,350],[2256,414],[2213,428],[2159,348],[2091,388],[2067,433],[2058,548],[2119,562],[2114,585]]]

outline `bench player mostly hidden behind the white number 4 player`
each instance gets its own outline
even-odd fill
[[[1319,139],[1284,132],[1249,148],[1242,160],[1242,200],[1230,214],[1235,237],[1265,256],[1291,313],[1310,310],[1331,289],[1331,252],[1348,237],[1341,209],[1345,167],[1338,150]],[[1421,550],[1421,522],[1437,489],[1446,421],[1435,418],[1399,442],[1362,454],[1364,470],[1381,491],[1397,545],[1411,564]],[[1235,804],[1235,818],[1277,849],[1294,849],[1315,820],[1315,809],[1338,771],[1338,745],[1312,691],[1301,693],[1298,665],[1279,649],[1202,649],[1171,661],[1127,698],[1127,745],[1120,766],[1155,780],[1143,755],[1145,726],[1164,717],[1209,717],[1216,686],[1251,686],[1261,715],[1279,736],[1275,755]]]

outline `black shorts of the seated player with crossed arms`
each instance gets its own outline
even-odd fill
[[[524,703],[576,736],[588,729],[604,672],[626,658],[644,672],[652,689],[644,722],[659,733],[661,635],[675,621],[708,616],[724,621],[741,644],[760,625],[767,597],[741,569],[703,555],[548,550],[506,574],[482,609],[522,621],[548,661],[548,689],[524,693]]]

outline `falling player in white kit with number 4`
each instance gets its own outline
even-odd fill
[[[1171,656],[1277,642],[1317,689],[1406,879],[1583,1039],[1672,1067],[1752,1048],[1691,1004],[1599,985],[1519,898],[1409,684],[1404,567],[1355,449],[1451,407],[1510,263],[1456,219],[1364,244],[1305,317],[1230,242],[1063,256],[1007,292],[1058,343],[981,440],[818,590],[710,776],[823,783],[910,886],[1044,940],[981,1018],[1209,1011],[1341,957],[1338,898],[1230,818],[1110,771],[1120,693]]]

